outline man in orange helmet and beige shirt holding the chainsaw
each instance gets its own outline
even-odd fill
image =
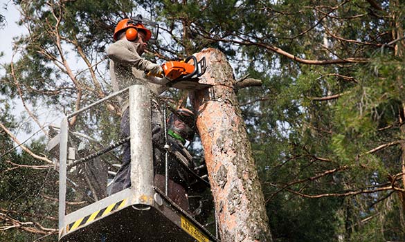
[[[120,91],[134,84],[144,84],[153,93],[159,95],[167,88],[165,78],[157,78],[163,72],[159,64],[154,64],[141,57],[151,39],[152,32],[143,23],[152,23],[138,15],[133,19],[123,19],[114,30],[114,44],[107,48],[110,59],[109,71],[113,90]],[[156,34],[157,35],[157,34]],[[145,75],[145,71],[149,75]],[[120,123],[120,137],[129,137],[129,101],[128,95],[119,99],[122,118]],[[163,127],[161,111],[156,101],[152,100],[152,139],[163,145]],[[154,147],[154,162],[161,159],[161,151]],[[110,194],[114,194],[131,186],[130,179],[131,149],[129,142],[123,145],[122,166],[118,170],[111,185]]]

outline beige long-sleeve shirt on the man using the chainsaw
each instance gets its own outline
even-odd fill
[[[145,76],[144,71],[150,71],[157,64],[142,58],[136,52],[139,44],[127,39],[120,39],[107,48],[107,55],[111,59],[109,72],[113,91],[120,91],[134,84],[144,84],[157,95],[167,89],[165,78]],[[129,106],[128,95],[120,100],[121,110],[125,111]]]

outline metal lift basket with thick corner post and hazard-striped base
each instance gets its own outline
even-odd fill
[[[66,214],[69,118],[125,91],[129,91],[132,187]],[[167,191],[153,187],[152,139],[144,138],[152,137],[150,120],[149,90],[141,85],[114,93],[62,120],[58,135],[60,242],[219,241],[174,203]]]

